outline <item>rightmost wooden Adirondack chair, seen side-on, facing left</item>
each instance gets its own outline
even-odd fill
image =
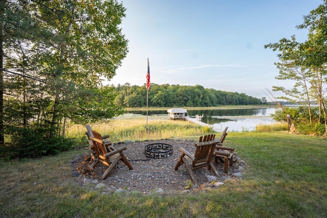
[[[215,162],[218,162],[218,159],[224,163],[224,173],[228,172],[228,160],[229,160],[229,166],[233,165],[233,147],[226,147],[223,146],[223,142],[227,136],[227,129],[228,126],[224,129],[223,133],[220,136],[219,143],[216,145],[215,150]]]

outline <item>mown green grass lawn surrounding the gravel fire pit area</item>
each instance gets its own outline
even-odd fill
[[[103,194],[75,184],[68,160],[83,150],[0,162],[1,217],[327,217],[327,140],[228,133],[246,162],[242,180],[193,194]]]

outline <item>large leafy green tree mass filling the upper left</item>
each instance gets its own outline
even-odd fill
[[[38,123],[50,129],[49,136],[58,136],[65,118],[85,123],[124,112],[113,103],[117,94],[113,88],[102,86],[103,78],[115,75],[128,52],[128,41],[119,28],[125,16],[121,3],[8,0],[1,1],[1,9],[2,69],[6,68],[8,78],[4,76],[6,86],[1,86],[8,91],[4,107],[35,105],[12,107],[30,122],[15,125]],[[12,80],[17,76],[21,81]]]

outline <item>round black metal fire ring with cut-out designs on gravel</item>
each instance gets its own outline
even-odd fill
[[[173,146],[165,143],[154,143],[145,146],[145,156],[149,158],[167,158],[173,153]]]

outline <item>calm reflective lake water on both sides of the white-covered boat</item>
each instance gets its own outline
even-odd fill
[[[228,126],[229,131],[242,132],[255,129],[257,124],[272,124],[275,121],[271,114],[275,113],[275,107],[251,107],[251,108],[221,108],[221,109],[195,109],[188,110],[188,115],[202,115],[202,122],[208,123],[216,128]],[[147,111],[128,111],[131,114],[147,115]],[[166,116],[167,110],[148,110],[149,116]]]

